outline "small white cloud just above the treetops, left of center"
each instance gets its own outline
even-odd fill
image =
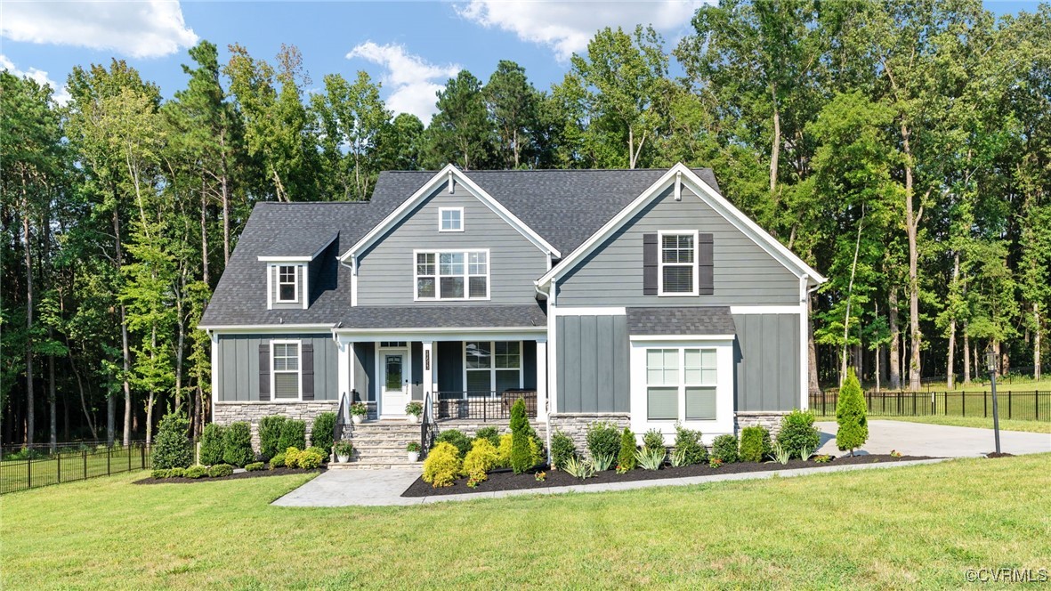
[[[347,59],[362,58],[387,68],[380,81],[390,90],[387,108],[394,113],[411,113],[425,125],[437,111],[435,94],[445,88],[446,80],[456,76],[457,64],[434,65],[419,56],[409,54],[403,45],[379,45],[366,41],[350,50]]]

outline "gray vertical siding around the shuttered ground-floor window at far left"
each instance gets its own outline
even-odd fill
[[[313,344],[314,400],[339,400],[336,347],[331,334],[219,334],[219,402],[260,400],[260,344],[273,340]]]

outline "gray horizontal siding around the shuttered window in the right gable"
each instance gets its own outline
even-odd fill
[[[710,295],[642,293],[642,235],[696,229],[713,235]],[[799,278],[683,187],[657,196],[556,284],[559,306],[778,306],[799,304]]]

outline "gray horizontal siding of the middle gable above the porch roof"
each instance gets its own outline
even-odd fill
[[[414,302],[416,250],[489,249],[489,303],[532,304],[533,281],[548,271],[548,258],[467,188],[435,189],[387,235],[358,257],[357,304],[360,306],[449,305]],[[463,231],[438,231],[438,208],[462,207]],[[477,300],[475,300],[477,302]],[[456,302],[454,302],[456,303]],[[463,301],[470,305],[471,301]]]

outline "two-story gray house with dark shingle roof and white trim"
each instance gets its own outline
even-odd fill
[[[611,421],[708,442],[807,404],[807,298],[825,279],[709,169],[394,171],[371,201],[260,203],[201,328],[213,420],[400,420],[582,442]],[[346,412],[346,410],[344,411]]]

